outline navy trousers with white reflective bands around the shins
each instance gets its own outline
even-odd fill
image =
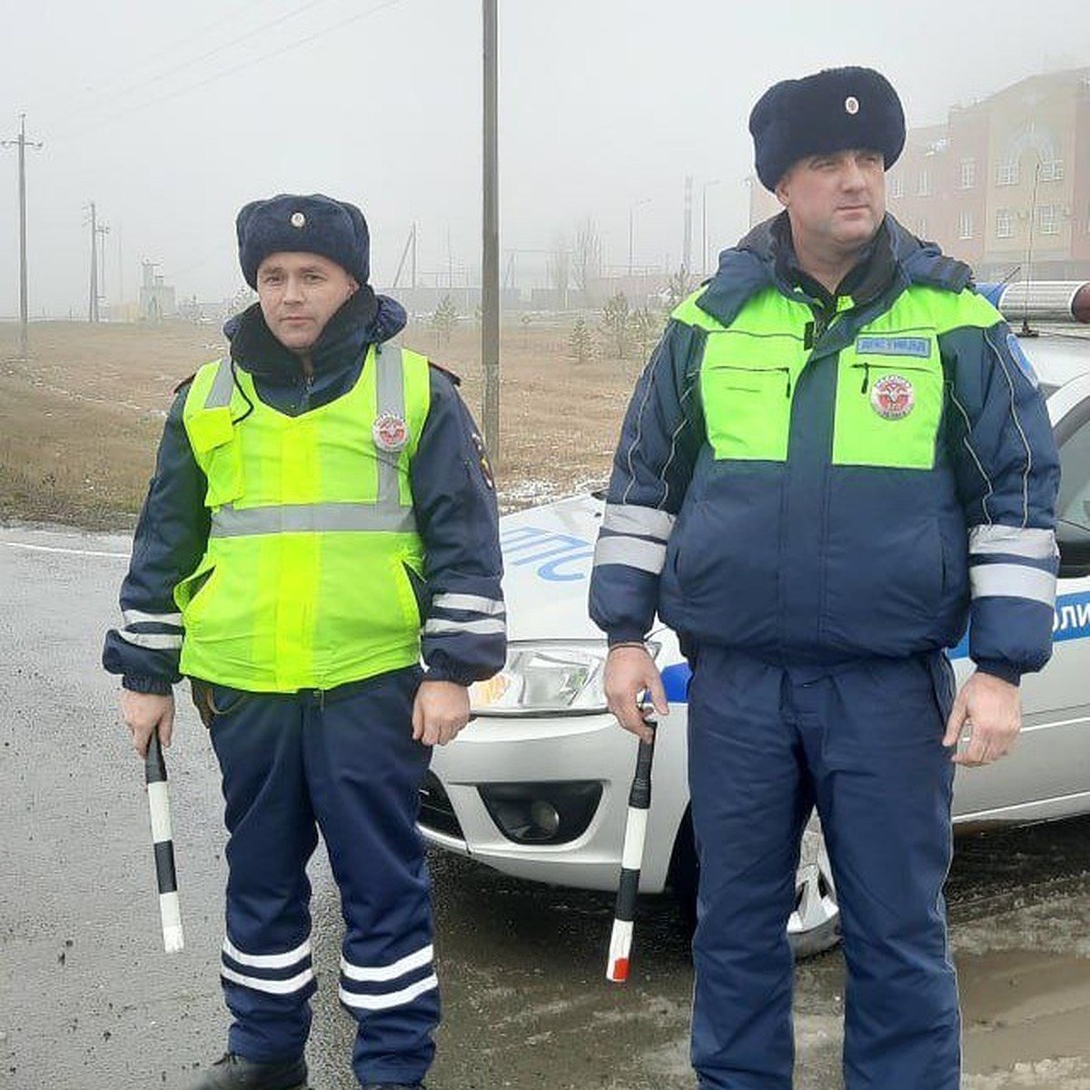
[[[327,693],[205,690],[229,835],[220,968],[228,1044],[302,1055],[316,983],[306,863],[325,840],[346,933],[340,1000],[361,1085],[415,1082],[439,1019],[431,885],[416,829],[431,750],[412,740],[416,667]],[[199,683],[198,683],[199,685]]]

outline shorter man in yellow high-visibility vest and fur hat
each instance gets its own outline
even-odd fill
[[[495,495],[452,377],[391,343],[360,209],[256,201],[238,238],[258,302],[179,388],[104,664],[141,754],[187,676],[222,772],[233,1020],[195,1090],[306,1081],[319,829],[355,1075],[419,1088],[439,998],[417,792],[504,662]]]

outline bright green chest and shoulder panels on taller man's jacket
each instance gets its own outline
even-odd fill
[[[700,390],[716,459],[786,461],[795,390],[811,355],[809,305],[767,288],[724,326],[697,305],[700,294],[673,317],[706,334]],[[938,337],[997,320],[991,304],[969,291],[901,292],[836,361],[832,463],[931,469],[944,405]]]

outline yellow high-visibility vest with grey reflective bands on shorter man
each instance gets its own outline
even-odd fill
[[[299,416],[266,405],[227,359],[197,372],[183,421],[211,525],[174,589],[183,674],[294,692],[419,662],[409,467],[427,372],[422,355],[372,346],[351,390]]]

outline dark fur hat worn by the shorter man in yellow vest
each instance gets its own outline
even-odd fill
[[[336,262],[358,283],[371,275],[367,221],[355,205],[320,193],[298,196],[280,193],[252,201],[235,222],[239,264],[251,288],[257,287],[257,266],[269,254],[320,254]]]

